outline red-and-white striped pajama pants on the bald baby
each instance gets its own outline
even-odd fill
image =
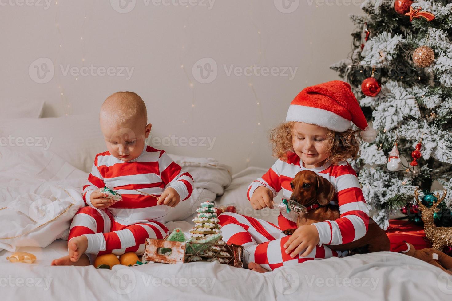
[[[88,239],[88,249],[85,253],[91,255],[108,253],[121,255],[127,252],[142,255],[146,238],[165,238],[167,234],[168,229],[161,222],[123,225],[115,220],[107,208],[83,207],[72,219],[68,241],[85,235]]]

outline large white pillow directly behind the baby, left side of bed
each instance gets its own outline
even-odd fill
[[[91,171],[95,155],[106,150],[98,114],[0,119],[0,146],[18,152],[25,148],[49,150],[86,172]]]

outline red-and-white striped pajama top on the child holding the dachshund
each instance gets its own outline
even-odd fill
[[[340,218],[334,221],[316,222],[319,245],[341,245],[356,241],[367,232],[369,209],[364,199],[356,172],[346,161],[338,165],[326,162],[321,167],[306,168],[296,153],[289,153],[287,162],[277,160],[273,166],[248,187],[248,199],[259,186],[265,186],[276,196],[282,190],[285,199],[292,195],[290,182],[299,171],[310,170],[324,177],[334,186],[333,202],[339,205]],[[291,212],[292,213],[292,212]],[[286,216],[285,212],[283,215]],[[286,216],[294,220],[295,215]]]

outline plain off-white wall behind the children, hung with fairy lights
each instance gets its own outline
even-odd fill
[[[188,8],[132,0],[135,7],[128,13],[118,13],[110,1],[53,0],[47,9],[45,0],[27,1],[32,5],[0,0],[0,97],[10,99],[11,105],[15,100],[45,100],[44,116],[56,117],[96,112],[109,94],[134,91],[146,102],[154,135],[216,139],[211,150],[160,148],[216,157],[234,172],[271,166],[268,130],[285,119],[289,103],[302,88],[338,79],[328,67],[348,55],[353,29],[348,14],[360,11],[356,5],[325,5],[320,0],[318,7],[316,1],[301,1],[288,14],[271,0],[216,0],[211,9],[207,0],[207,6]],[[30,76],[28,69],[42,57],[52,60],[55,71],[49,82],[36,83],[36,70],[32,65]],[[193,64],[204,57],[218,66],[212,83],[199,83],[192,74]],[[41,63],[38,60],[38,66]],[[91,64],[134,69],[130,79],[61,72],[61,65],[80,69]],[[292,80],[228,76],[223,64],[298,70]]]

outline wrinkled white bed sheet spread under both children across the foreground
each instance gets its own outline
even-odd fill
[[[217,204],[235,204],[240,213],[272,220],[278,212],[254,211],[248,184],[264,169],[233,177]],[[169,222],[188,231],[190,220]],[[117,265],[112,270],[52,267],[67,254],[67,241],[46,248],[21,247],[34,264],[10,263],[0,252],[2,300],[451,300],[452,278],[433,265],[392,252],[308,261],[260,274],[218,263]]]

